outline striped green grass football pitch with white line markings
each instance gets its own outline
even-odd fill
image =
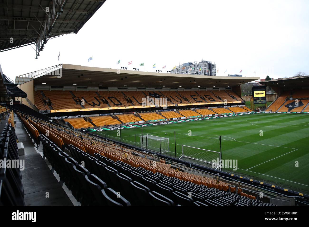
[[[309,114],[257,113],[122,129],[121,136],[117,130],[96,133],[136,146],[141,146],[142,133],[168,138],[169,148],[162,145],[161,149],[169,149],[164,154],[176,158],[182,154],[182,145],[220,152],[221,136],[222,159],[237,160],[237,170],[223,171],[309,192]],[[205,158],[198,149],[192,152],[193,158]]]

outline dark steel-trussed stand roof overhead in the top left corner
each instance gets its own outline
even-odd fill
[[[37,58],[47,40],[76,34],[105,1],[0,0],[0,52],[35,44]]]

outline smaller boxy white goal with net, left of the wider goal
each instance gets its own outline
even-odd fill
[[[170,142],[168,138],[153,136],[149,134],[139,137],[141,139],[141,147],[144,149],[149,149],[160,153],[170,151]]]

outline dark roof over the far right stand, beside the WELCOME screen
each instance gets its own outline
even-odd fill
[[[309,76],[298,76],[280,80],[261,81],[261,84],[279,88],[302,88],[309,86]]]

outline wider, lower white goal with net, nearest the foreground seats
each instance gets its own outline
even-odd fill
[[[182,155],[179,159],[190,159],[191,162],[195,160],[198,164],[207,163],[212,166],[214,165],[216,170],[221,170],[221,153],[218,151],[182,145]],[[213,162],[213,160],[216,162]]]

